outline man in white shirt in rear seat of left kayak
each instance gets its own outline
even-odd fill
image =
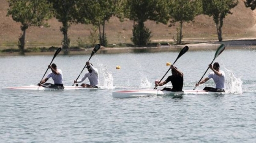
[[[82,83],[82,87],[87,87],[87,88],[98,88],[99,85],[99,74],[98,74],[98,69],[93,67],[93,64],[90,63],[89,61],[86,62],[86,68],[88,70],[87,73],[84,74],[84,77],[82,79],[79,80],[74,80],[74,84],[75,83],[80,83],[83,82],[84,79],[86,79],[88,77],[89,81],[90,81],[90,85],[86,84],[86,83]]]

